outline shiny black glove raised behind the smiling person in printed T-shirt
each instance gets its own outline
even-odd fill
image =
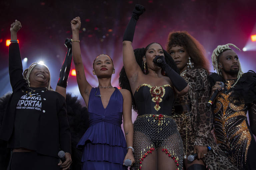
[[[70,72],[71,62],[72,62],[72,42],[71,39],[66,38],[65,40],[65,46],[68,48],[68,51],[66,53],[66,57],[64,59],[64,62],[62,64],[61,70],[60,70],[60,78],[57,83],[58,86],[67,88],[68,84],[68,76]]]

